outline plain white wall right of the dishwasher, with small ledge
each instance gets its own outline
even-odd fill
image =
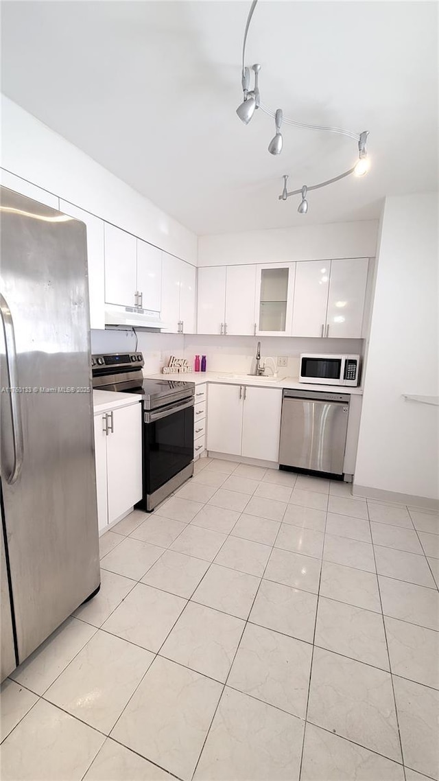
[[[439,408],[402,398],[439,394],[437,206],[437,194],[385,201],[355,469],[359,494],[439,498]]]

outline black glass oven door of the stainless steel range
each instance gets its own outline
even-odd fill
[[[194,458],[194,398],[144,412],[144,499]]]

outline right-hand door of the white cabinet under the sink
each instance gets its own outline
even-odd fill
[[[281,408],[280,388],[244,388],[241,455],[279,461]]]

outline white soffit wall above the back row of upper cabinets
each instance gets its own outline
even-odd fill
[[[373,258],[377,233],[378,220],[365,220],[200,236],[198,266]]]

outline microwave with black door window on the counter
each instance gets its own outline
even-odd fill
[[[300,356],[299,382],[319,385],[359,384],[359,355]]]

